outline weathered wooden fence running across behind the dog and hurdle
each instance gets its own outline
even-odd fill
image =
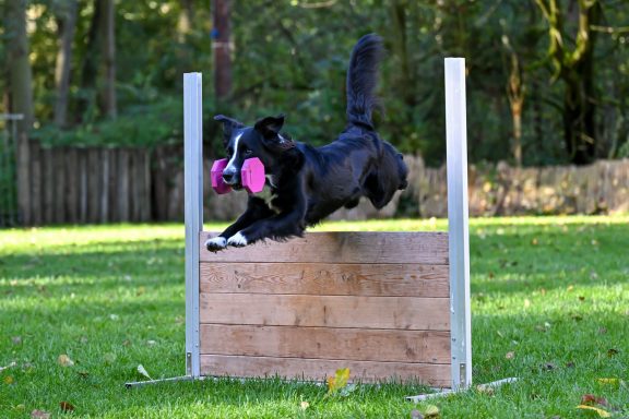
[[[182,146],[56,147],[32,142],[20,224],[99,224],[183,219]],[[447,217],[446,168],[406,156],[410,187],[382,211],[366,200],[332,218]],[[211,160],[205,159],[205,172]],[[608,214],[629,212],[629,159],[590,166],[470,166],[470,215]],[[204,184],[207,220],[234,219],[245,193],[216,195]],[[2,197],[2,196],[0,196]],[[0,214],[0,226],[8,225]]]

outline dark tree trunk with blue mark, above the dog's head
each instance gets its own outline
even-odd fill
[[[214,92],[218,99],[232,93],[232,0],[214,0]]]

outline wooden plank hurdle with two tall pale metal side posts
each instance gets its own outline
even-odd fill
[[[309,232],[218,253],[203,247],[201,74],[183,82],[183,379],[349,368],[363,382],[470,386],[464,60],[446,59],[448,232]]]

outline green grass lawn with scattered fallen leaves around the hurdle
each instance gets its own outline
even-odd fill
[[[218,229],[221,226],[206,226]],[[321,229],[439,230],[437,222]],[[471,222],[475,383],[520,381],[430,402],[446,418],[586,418],[585,394],[629,417],[629,217]],[[183,374],[183,227],[0,230],[0,418],[411,418],[418,385],[204,381]],[[72,366],[62,366],[67,355]],[[331,373],[333,373],[331,371]],[[600,379],[620,379],[601,381]],[[60,403],[74,407],[63,412]],[[309,406],[302,409],[301,402]]]

